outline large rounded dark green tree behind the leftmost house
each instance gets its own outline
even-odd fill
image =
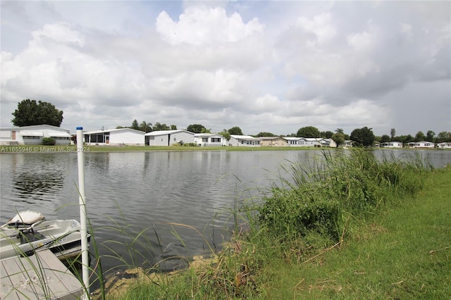
[[[25,99],[19,102],[11,122],[14,126],[52,125],[60,127],[63,111],[58,111],[53,104],[44,101]]]

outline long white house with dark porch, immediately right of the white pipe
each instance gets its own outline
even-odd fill
[[[144,146],[144,132],[131,128],[87,131],[83,135],[90,146]]]

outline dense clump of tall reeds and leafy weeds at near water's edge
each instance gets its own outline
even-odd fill
[[[414,194],[424,185],[430,166],[419,157],[403,163],[378,161],[373,152],[344,155],[323,152],[321,159],[294,163],[292,178],[273,187],[259,208],[259,221],[280,242],[321,234],[338,242],[345,221],[373,213],[395,195]]]

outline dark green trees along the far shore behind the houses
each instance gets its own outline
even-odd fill
[[[24,99],[18,104],[16,111],[12,113],[13,119],[11,123],[14,126],[30,126],[30,125],[53,125],[60,127],[63,122],[63,111],[59,111],[53,104],[45,101],[36,101],[30,99]],[[117,126],[116,128],[132,128],[134,130],[140,130],[143,132],[152,132],[159,130],[177,130],[176,125],[166,125],[156,122],[155,124],[142,121],[138,123],[135,119],[130,126]],[[191,124],[186,128],[187,131],[194,133],[211,133],[210,129],[207,129],[202,124]],[[226,139],[230,139],[230,135],[243,135],[242,130],[238,126],[224,129],[218,134],[223,135]],[[433,130],[428,130],[426,135],[424,132],[416,132],[416,135],[396,135],[395,128],[390,130],[390,135],[382,135],[377,137],[373,134],[373,129],[369,127],[356,128],[352,130],[350,135],[345,134],[342,128],[337,128],[335,132],[331,131],[319,131],[314,126],[305,126],[299,128],[296,133],[290,135],[274,135],[271,132],[259,132],[258,135],[252,135],[252,137],[314,137],[314,138],[326,138],[333,139],[338,145],[344,144],[346,140],[352,140],[357,146],[373,146],[376,142],[402,142],[407,144],[409,142],[451,142],[451,132],[443,131],[435,135]]]

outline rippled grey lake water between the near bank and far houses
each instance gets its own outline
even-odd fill
[[[396,157],[404,152],[376,151]],[[451,151],[419,153],[436,168],[451,163]],[[233,226],[235,202],[258,200],[271,182],[285,175],[280,165],[317,154],[321,151],[85,153],[87,213],[94,237],[102,255],[116,252],[116,258],[102,258],[104,270],[208,253],[210,246],[218,249]],[[25,209],[40,211],[47,219],[79,219],[77,154],[1,154],[0,165],[1,223]],[[142,239],[134,241],[137,232],[143,233]],[[124,244],[132,243],[130,254]],[[181,263],[167,262],[161,268]]]

